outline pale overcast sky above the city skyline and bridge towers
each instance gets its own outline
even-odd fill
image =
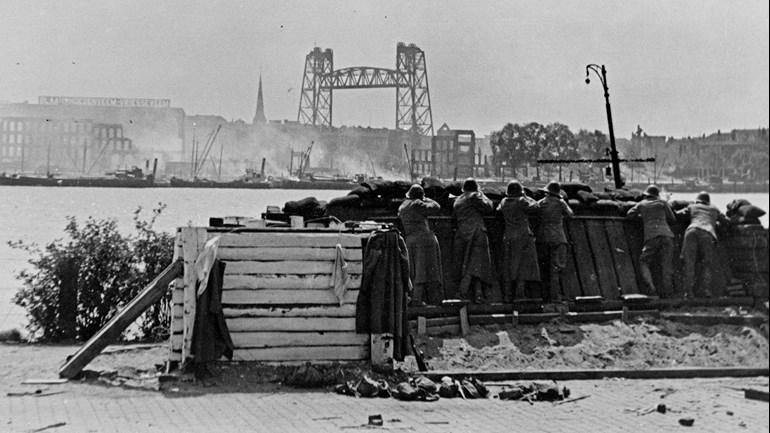
[[[0,2],[0,101],[170,98],[188,114],[296,120],[306,54],[395,67],[425,51],[433,121],[484,135],[506,122],[700,135],[767,127],[767,0]],[[395,90],[338,90],[334,123],[393,127]]]

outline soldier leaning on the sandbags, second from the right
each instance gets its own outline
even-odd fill
[[[674,255],[674,233],[669,224],[676,222],[674,211],[666,201],[660,199],[660,190],[650,185],[644,190],[643,199],[628,210],[627,218],[641,219],[644,227],[644,244],[639,255],[639,273],[649,293],[670,296],[671,260]],[[661,274],[661,292],[658,292],[652,280],[650,265],[658,262]]]

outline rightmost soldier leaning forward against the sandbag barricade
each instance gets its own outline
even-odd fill
[[[677,212],[690,218],[684,232],[681,258],[684,262],[684,295],[687,297],[711,297],[711,275],[717,253],[716,226],[728,224],[727,217],[711,205],[711,197],[705,191],[695,197],[695,203]],[[700,264],[701,284],[697,283],[695,266]],[[694,290],[697,288],[697,290]]]

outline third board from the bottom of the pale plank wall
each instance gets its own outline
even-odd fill
[[[355,317],[234,317],[225,319],[230,332],[355,331]]]

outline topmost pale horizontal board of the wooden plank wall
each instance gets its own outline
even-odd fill
[[[210,233],[210,237],[221,236],[219,246],[226,247],[303,247],[334,248],[337,244],[343,248],[361,248],[361,238],[368,235],[349,233]]]

